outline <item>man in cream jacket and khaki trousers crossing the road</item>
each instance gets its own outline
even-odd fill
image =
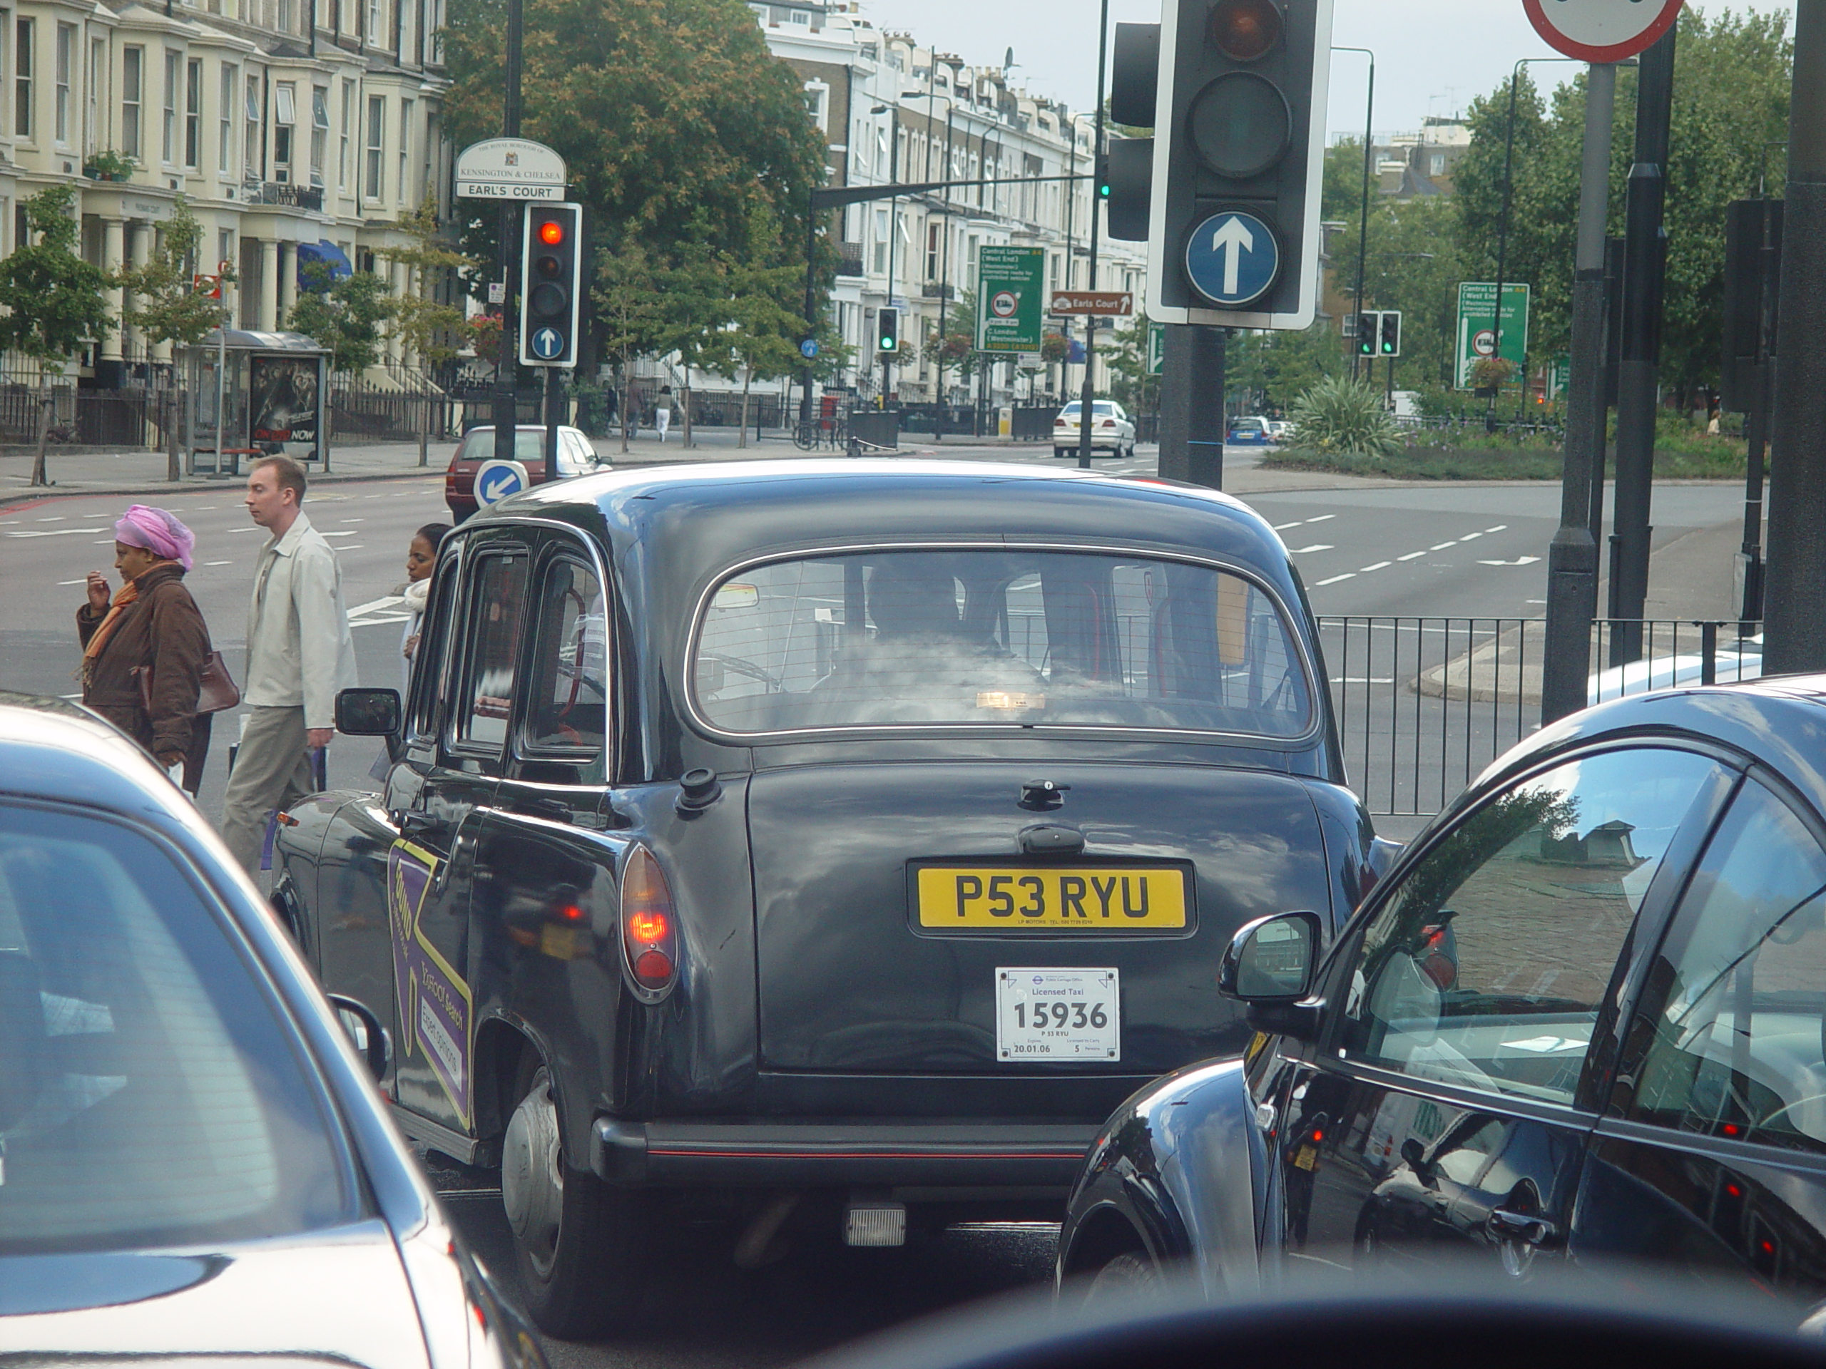
[[[247,511],[268,531],[247,611],[247,712],[223,798],[223,841],[257,874],[267,814],[316,792],[309,752],[336,736],[336,694],[356,683],[336,549],[305,517],[305,469],[263,456]]]

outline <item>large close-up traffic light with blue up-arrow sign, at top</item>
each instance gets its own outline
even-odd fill
[[[1118,91],[1139,99],[1149,86],[1145,44],[1132,38],[1127,51],[1112,113]],[[1331,0],[1165,0],[1150,120],[1149,318],[1311,325],[1329,71]]]

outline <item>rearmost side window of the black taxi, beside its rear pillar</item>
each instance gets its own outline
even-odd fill
[[[562,557],[539,591],[528,752],[593,754],[608,732],[608,613],[595,571]]]

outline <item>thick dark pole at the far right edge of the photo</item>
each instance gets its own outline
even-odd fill
[[[1795,7],[1782,223],[1764,674],[1826,666],[1826,0]]]

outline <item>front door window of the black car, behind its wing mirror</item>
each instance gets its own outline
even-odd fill
[[[1715,770],[1691,752],[1609,752],[1461,820],[1360,933],[1340,1055],[1572,1103],[1618,953]]]

